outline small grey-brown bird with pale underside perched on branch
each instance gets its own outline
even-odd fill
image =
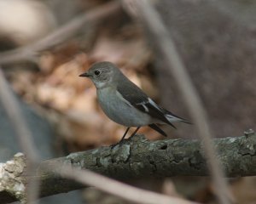
[[[130,127],[137,127],[131,137],[143,126],[149,126],[167,136],[157,124],[166,123],[174,128],[176,127],[172,125],[172,122],[190,124],[154,103],[153,99],[150,99],[142,89],[125,77],[111,62],[98,62],[79,77],[90,78],[96,86],[97,99],[105,114],[114,122],[127,127],[119,142],[125,139]]]

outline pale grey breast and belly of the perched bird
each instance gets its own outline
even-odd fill
[[[151,123],[150,116],[133,107],[115,88],[97,89],[97,98],[102,110],[113,122],[126,127],[145,126]]]

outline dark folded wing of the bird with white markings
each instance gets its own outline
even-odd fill
[[[138,88],[134,83],[120,82],[117,86],[118,94],[125,99],[126,103],[134,106],[139,111],[147,113],[149,116],[159,119],[162,122],[172,125],[171,122],[165,116],[165,110],[163,110],[159,105],[154,103],[152,99],[148,97],[140,88]]]

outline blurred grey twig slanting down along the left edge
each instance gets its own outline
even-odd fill
[[[2,102],[4,110],[9,116],[11,124],[14,127],[21,150],[23,150],[23,152],[26,154],[26,170],[27,172],[34,172],[39,162],[38,151],[35,149],[35,146],[32,142],[32,133],[26,125],[26,118],[22,116],[17,99],[15,98],[11,88],[9,88],[8,82],[3,75],[1,67],[0,101]],[[26,192],[26,199],[28,203],[34,203],[38,199],[38,180],[32,178],[27,184]]]

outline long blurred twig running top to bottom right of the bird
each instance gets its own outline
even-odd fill
[[[127,3],[127,1],[125,1],[125,3]],[[187,104],[190,115],[195,123],[195,127],[201,137],[218,200],[223,204],[230,203],[231,195],[228,190],[228,184],[224,180],[224,173],[218,163],[215,156],[215,150],[212,146],[212,131],[207,122],[207,112],[203,108],[201,99],[195,90],[195,86],[191,82],[189,74],[183,65],[183,61],[177,53],[177,48],[171,35],[160,20],[159,14],[148,1],[133,0],[128,1],[128,3],[136,3],[137,15],[141,17],[143,23],[154,35],[154,38],[157,39],[155,40],[155,43],[163,54],[163,59],[165,59],[166,65],[168,65],[169,68],[168,71],[172,72],[173,77],[176,79],[177,85],[183,94],[184,101]]]

